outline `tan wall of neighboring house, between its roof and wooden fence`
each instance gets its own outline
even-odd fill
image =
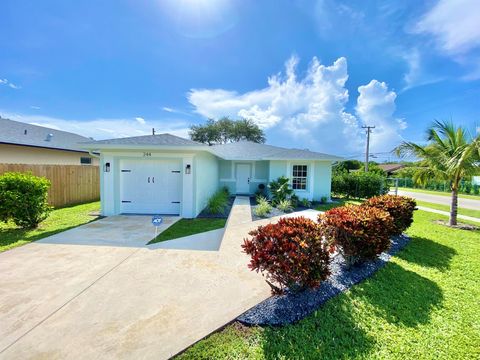
[[[81,157],[91,156],[88,153],[76,151],[0,144],[0,163],[2,164],[81,165]],[[98,159],[93,158],[92,165],[98,165],[98,163]]]

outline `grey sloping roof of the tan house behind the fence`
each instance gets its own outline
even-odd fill
[[[80,143],[91,139],[67,131],[0,117],[0,143],[86,152]]]

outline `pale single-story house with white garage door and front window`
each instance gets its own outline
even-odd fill
[[[287,176],[300,198],[330,199],[333,155],[252,142],[208,146],[170,134],[89,142],[100,152],[103,215],[196,217],[222,186],[251,195]]]

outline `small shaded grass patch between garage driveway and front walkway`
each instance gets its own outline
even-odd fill
[[[194,235],[205,231],[221,229],[225,227],[227,219],[180,219],[175,224],[160,233],[149,244],[177,239],[184,236]]]

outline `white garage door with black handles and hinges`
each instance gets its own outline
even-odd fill
[[[121,212],[180,214],[181,169],[180,160],[121,160]]]

